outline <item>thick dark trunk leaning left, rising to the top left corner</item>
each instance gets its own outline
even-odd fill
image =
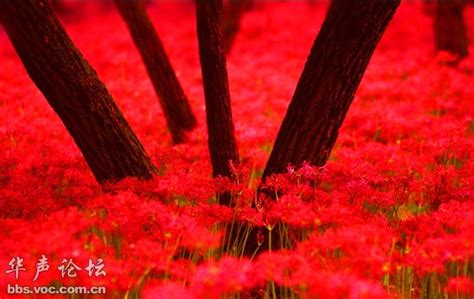
[[[47,0],[0,0],[0,22],[28,74],[99,182],[149,179],[155,167]]]

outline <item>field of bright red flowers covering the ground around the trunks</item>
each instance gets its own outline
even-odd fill
[[[106,286],[108,298],[472,298],[474,49],[457,67],[435,55],[421,5],[400,6],[327,165],[289,167],[268,181],[277,201],[250,208],[325,8],[271,2],[243,17],[227,61],[237,183],[211,177],[191,2],[149,7],[199,120],[179,146],[118,13],[63,17],[159,168],[145,182],[96,183],[0,31],[0,298],[13,285]],[[472,45],[472,7],[466,20]],[[233,209],[216,203],[225,189]],[[293,246],[242,257],[245,239],[222,236],[248,224],[260,238],[278,225]]]

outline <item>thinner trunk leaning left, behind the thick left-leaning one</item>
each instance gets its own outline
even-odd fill
[[[115,0],[145,63],[175,144],[186,140],[196,118],[141,0]]]

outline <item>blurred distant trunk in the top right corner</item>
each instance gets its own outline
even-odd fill
[[[434,11],[436,51],[448,51],[457,59],[468,54],[468,39],[464,24],[465,0],[437,0]]]

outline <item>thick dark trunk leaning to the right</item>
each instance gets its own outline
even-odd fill
[[[400,0],[333,0],[283,120],[263,179],[326,163],[377,43]]]

